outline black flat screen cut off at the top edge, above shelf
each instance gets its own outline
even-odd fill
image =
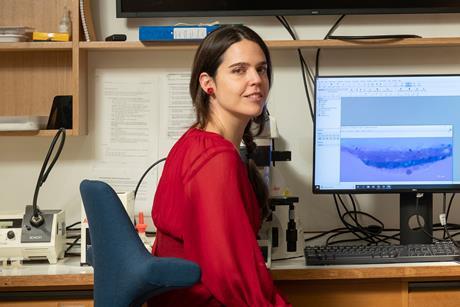
[[[460,0],[117,0],[117,17],[458,13]]]

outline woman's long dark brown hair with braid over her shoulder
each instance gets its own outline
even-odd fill
[[[267,76],[268,82],[271,86],[272,83],[272,64],[268,47],[262,38],[250,28],[243,25],[228,25],[222,26],[219,29],[209,34],[200,44],[195,54],[193,61],[192,75],[190,78],[190,95],[192,97],[193,105],[196,112],[195,127],[204,129],[210,120],[210,104],[209,95],[202,89],[199,77],[200,74],[205,72],[210,77],[215,78],[217,69],[222,63],[222,57],[225,51],[233,44],[242,40],[249,40],[262,49],[267,62]],[[263,181],[257,167],[252,159],[252,156],[257,148],[254,142],[254,136],[259,135],[266,122],[267,110],[264,106],[262,113],[249,121],[244,129],[243,143],[246,146],[247,152],[247,167],[248,176],[254,189],[259,206],[261,209],[261,217],[264,218],[268,215],[268,188]],[[256,133],[251,129],[252,123],[257,124]]]

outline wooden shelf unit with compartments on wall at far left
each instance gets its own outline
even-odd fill
[[[72,95],[72,129],[87,134],[87,57],[80,52],[79,0],[2,0],[0,26],[57,32],[64,7],[72,18],[70,42],[0,43],[0,116],[48,116],[57,95]],[[8,131],[0,136],[53,136],[54,130]]]

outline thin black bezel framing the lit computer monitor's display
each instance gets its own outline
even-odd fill
[[[395,188],[395,189],[327,189],[321,190],[316,188],[316,110],[317,110],[317,83],[321,78],[391,78],[391,77],[459,77],[460,74],[389,74],[389,75],[322,75],[315,77],[315,90],[314,90],[314,107],[315,107],[315,120],[313,122],[313,165],[312,165],[312,192],[313,194],[398,194],[398,193],[451,193],[460,191],[460,184],[433,186],[421,185],[412,186],[408,188]]]

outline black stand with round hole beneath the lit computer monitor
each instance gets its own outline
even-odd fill
[[[433,243],[433,193],[423,193],[416,208],[416,192],[399,195],[401,245]],[[417,214],[420,217],[419,227]]]

